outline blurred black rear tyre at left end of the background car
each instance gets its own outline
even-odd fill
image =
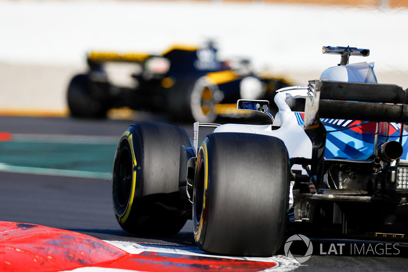
[[[88,75],[72,78],[67,91],[68,107],[73,117],[105,118],[108,108],[89,92]]]

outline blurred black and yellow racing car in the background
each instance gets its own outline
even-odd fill
[[[234,115],[239,98],[272,98],[291,83],[254,73],[249,60],[220,61],[213,43],[173,46],[161,55],[91,52],[89,71],[74,76],[67,100],[74,117],[103,118],[112,108],[165,112],[173,120],[213,122]]]

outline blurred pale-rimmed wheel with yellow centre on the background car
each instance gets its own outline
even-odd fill
[[[217,86],[211,84],[206,77],[201,77],[195,82],[190,95],[191,115],[195,121],[203,123],[215,121],[217,113],[214,105],[219,93]]]

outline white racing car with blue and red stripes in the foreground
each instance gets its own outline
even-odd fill
[[[378,84],[356,47],[324,46],[338,66],[265,100],[239,100],[270,125],[194,123],[193,140],[165,123],[135,123],[119,140],[112,197],[120,226],[171,235],[193,220],[206,252],[271,256],[292,229],[398,236],[407,226],[408,98]],[[199,129],[213,130],[199,144]],[[201,137],[202,138],[202,137]]]

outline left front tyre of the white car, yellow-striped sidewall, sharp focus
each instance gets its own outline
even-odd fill
[[[115,216],[123,230],[165,236],[183,228],[187,218],[178,212],[181,145],[192,146],[187,133],[165,123],[137,123],[123,133],[112,182]]]

